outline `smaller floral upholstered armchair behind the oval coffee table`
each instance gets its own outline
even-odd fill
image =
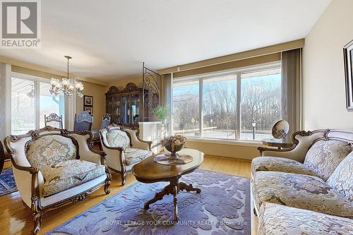
[[[107,165],[121,175],[121,185],[125,184],[126,172],[131,171],[145,157],[153,155],[150,141],[138,138],[137,128],[109,126],[100,130],[100,141],[107,152]]]

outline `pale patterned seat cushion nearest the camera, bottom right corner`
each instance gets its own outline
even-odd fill
[[[270,234],[353,234],[353,219],[263,203],[258,220],[258,235]]]

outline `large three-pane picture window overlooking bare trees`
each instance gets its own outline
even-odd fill
[[[280,64],[173,82],[173,133],[262,140],[281,119]],[[202,116],[201,116],[202,115]]]

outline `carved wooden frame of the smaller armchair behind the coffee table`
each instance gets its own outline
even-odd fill
[[[107,145],[107,143],[105,143],[102,132],[107,131],[109,128],[119,128],[121,131],[124,131],[128,135],[128,138],[130,139],[130,147],[136,147],[136,148],[145,147],[146,150],[152,151],[151,150],[152,141],[141,140],[139,137],[140,130],[136,127],[124,128],[123,126],[112,125],[112,126],[109,126],[107,128],[100,130],[100,142],[102,144],[102,149],[104,150],[104,152],[107,152],[107,154],[114,155],[114,152],[118,151],[117,152],[118,154],[116,155],[116,153],[115,153],[115,155],[119,159],[119,164],[120,164],[121,170],[113,169],[112,167],[109,167],[109,169],[120,174],[121,185],[124,186],[126,183],[126,174],[129,171],[131,171],[131,169],[126,170],[126,165],[124,163],[124,157],[123,157],[124,156],[123,155],[124,148],[123,147],[110,147]],[[140,145],[140,146],[136,146],[136,145]],[[145,145],[145,146],[141,146],[141,145]]]

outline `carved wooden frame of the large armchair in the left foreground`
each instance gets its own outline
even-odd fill
[[[24,192],[25,194],[26,190],[30,189],[30,195],[31,195],[30,198],[27,198],[27,197],[24,198],[25,195],[22,195],[22,194],[21,194],[21,197],[23,198],[22,199],[23,205],[25,205],[25,207],[29,207],[30,210],[32,211],[33,222],[34,222],[34,229],[32,230],[33,234],[37,234],[37,232],[40,231],[40,228],[42,225],[42,215],[45,212],[48,212],[49,210],[55,210],[56,208],[67,205],[69,203],[85,200],[85,198],[90,193],[92,193],[93,191],[96,191],[101,186],[104,186],[104,192],[106,194],[109,194],[110,193],[109,186],[111,184],[111,179],[112,179],[112,175],[110,173],[109,168],[105,166],[105,174],[106,174],[105,180],[99,181],[99,180],[102,180],[100,179],[102,176],[96,179],[92,179],[92,181],[96,180],[95,182],[98,182],[98,183],[93,184],[93,186],[90,186],[90,188],[87,188],[86,186],[87,189],[85,189],[84,191],[78,190],[78,193],[70,195],[68,198],[65,198],[64,196],[63,198],[61,198],[61,200],[54,201],[54,203],[49,203],[48,205],[42,205],[41,200],[43,199],[43,197],[40,193],[40,184],[44,183],[44,179],[42,174],[40,173],[40,170],[37,169],[36,167],[30,166],[28,161],[24,162],[25,164],[23,164],[23,162],[22,164],[18,164],[17,162],[18,159],[16,158],[17,158],[17,155],[21,155],[21,154],[25,155],[25,149],[28,147],[28,143],[30,141],[36,140],[37,138],[40,138],[40,136],[44,136],[44,135],[62,135],[66,138],[70,138],[73,141],[73,144],[76,145],[76,149],[77,149],[76,159],[86,159],[89,162],[95,161],[96,163],[100,163],[102,165],[105,164],[106,153],[92,148],[92,133],[90,131],[66,131],[64,129],[46,126],[37,131],[29,131],[25,135],[7,136],[5,138],[5,146],[8,152],[11,153],[11,162],[14,167],[13,170],[17,171],[17,174],[23,176],[21,178],[21,181],[26,181],[25,183],[18,185],[18,191],[20,191],[20,194],[21,192]],[[74,137],[75,135],[76,135],[76,138],[80,138],[80,140],[76,140],[76,138]],[[24,145],[23,152],[20,152],[20,151],[16,152],[16,150],[14,150],[11,145],[13,143],[16,144],[20,141],[23,142],[23,143],[20,143],[20,145]],[[83,155],[82,153],[84,152],[89,152],[90,154]],[[85,182],[85,183],[88,183],[88,182]],[[75,187],[83,186],[85,183]],[[30,188],[26,188],[28,186],[30,186]],[[63,192],[69,191],[73,188],[68,188]],[[50,195],[48,196],[48,198],[54,197],[55,195],[56,194]]]

